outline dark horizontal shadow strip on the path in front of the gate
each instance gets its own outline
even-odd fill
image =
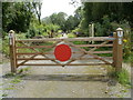
[[[37,81],[109,81],[108,76],[103,74],[30,74],[22,80]]]

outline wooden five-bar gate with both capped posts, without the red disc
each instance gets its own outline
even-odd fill
[[[90,37],[90,38],[45,38],[45,39],[16,39],[14,32],[9,32],[11,72],[16,72],[20,66],[102,66],[110,64],[116,71],[122,68],[122,38],[121,28],[113,32],[113,37]],[[80,44],[76,43],[80,41]],[[81,42],[96,41],[96,44],[81,44]],[[49,42],[49,44],[47,43]],[[75,44],[76,43],[76,44]],[[68,44],[72,50],[72,57],[64,62],[54,57],[54,48],[59,44]],[[98,51],[101,47],[109,47],[109,50]],[[112,57],[102,57],[101,53],[111,53]],[[99,60],[93,63],[93,60]],[[37,63],[37,61],[41,61]],[[80,61],[80,63],[78,62]],[[34,63],[33,63],[34,62]],[[43,63],[42,63],[43,62]]]

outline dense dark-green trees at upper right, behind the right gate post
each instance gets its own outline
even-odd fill
[[[114,24],[129,22],[133,27],[133,2],[84,2],[82,7],[82,19],[80,29],[88,34],[89,24],[95,23],[98,36],[106,36],[113,31]]]

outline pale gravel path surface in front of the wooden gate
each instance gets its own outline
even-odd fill
[[[73,48],[74,49],[74,48]],[[76,50],[76,49],[74,49]],[[49,62],[49,61],[47,61]],[[45,63],[47,63],[45,62]],[[81,63],[81,61],[78,61]],[[86,62],[86,61],[85,61]],[[90,61],[91,62],[91,61]],[[2,67],[3,76],[10,64]],[[27,68],[27,67],[20,67]],[[3,77],[3,93],[9,98],[110,98],[115,83],[108,77],[109,66],[28,67],[27,76],[18,83]],[[112,82],[112,83],[111,83]],[[13,86],[13,89],[9,89]],[[6,89],[8,88],[8,89]],[[111,89],[110,89],[111,88]],[[116,93],[116,92],[115,92]],[[117,94],[117,93],[116,93]],[[130,94],[125,94],[130,97]]]

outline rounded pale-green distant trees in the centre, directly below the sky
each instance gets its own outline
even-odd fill
[[[80,19],[75,14],[68,17],[64,12],[53,13],[43,19],[45,24],[52,23],[60,27],[62,31],[73,30],[80,23]]]

